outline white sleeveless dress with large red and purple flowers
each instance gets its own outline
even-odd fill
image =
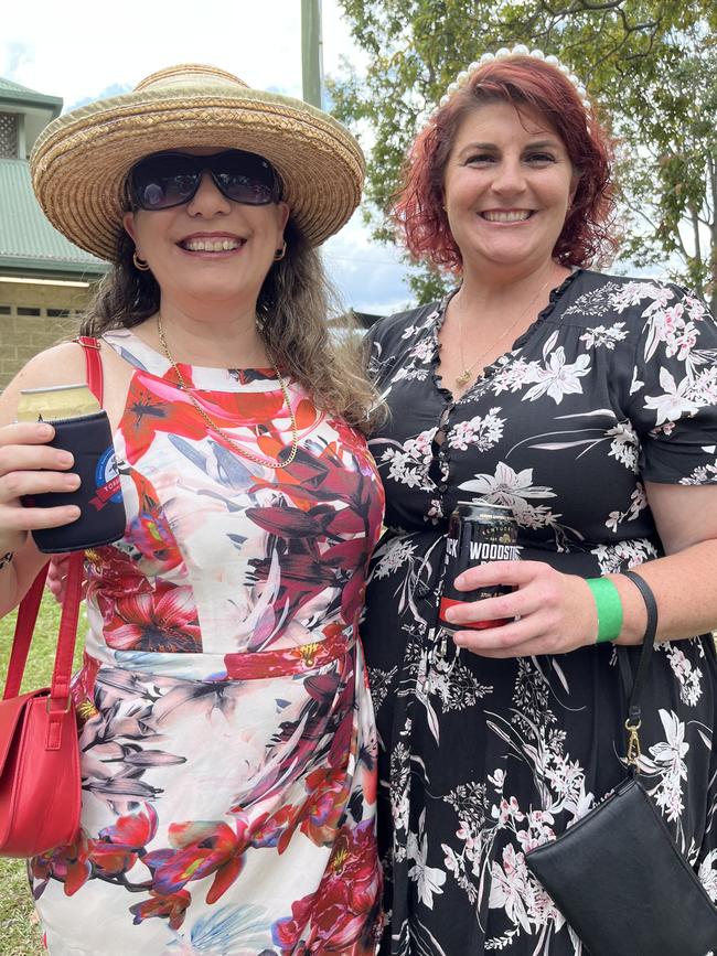
[[[131,331],[122,540],[89,552],[77,842],[30,863],[52,956],[374,952],[376,734],[357,615],[383,493],[365,440],[289,382],[292,464],[239,456]],[[180,366],[255,455],[272,370]]]

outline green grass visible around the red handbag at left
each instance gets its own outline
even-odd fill
[[[0,675],[4,680],[15,615],[9,614],[0,621]],[[45,595],[33,635],[32,647],[25,667],[23,689],[32,690],[50,684],[55,662],[55,644],[60,624],[60,608],[54,598]],[[84,623],[81,617],[81,633]],[[81,642],[77,642],[81,644]],[[75,651],[79,660],[81,649]],[[28,888],[24,860],[9,860],[0,857],[0,956],[41,956],[46,953],[42,946],[38,917]]]

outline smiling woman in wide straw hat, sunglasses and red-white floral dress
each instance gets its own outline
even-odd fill
[[[52,956],[372,953],[375,732],[356,644],[382,494],[372,393],[330,347],[314,247],[358,203],[334,120],[208,66],[153,74],[51,123],[47,217],[109,259],[98,336],[125,537],[90,554],[77,841],[31,862]],[[30,536],[76,486],[21,388],[0,413],[0,611],[46,560]]]

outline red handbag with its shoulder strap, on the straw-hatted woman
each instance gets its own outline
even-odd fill
[[[101,362],[96,340],[85,346],[87,384],[101,405]],[[69,696],[84,551],[68,559],[51,686],[20,696],[47,565],[18,610],[0,701],[0,857],[34,857],[72,844],[79,830],[81,774],[77,721]]]

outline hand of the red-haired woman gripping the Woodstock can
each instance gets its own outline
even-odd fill
[[[576,574],[563,574],[544,561],[491,561],[456,579],[460,591],[510,584],[510,594],[453,605],[453,626],[510,619],[506,624],[459,631],[453,640],[483,657],[565,654],[595,644],[598,616],[590,589]],[[448,616],[448,615],[447,615]],[[513,620],[517,619],[517,620]]]

